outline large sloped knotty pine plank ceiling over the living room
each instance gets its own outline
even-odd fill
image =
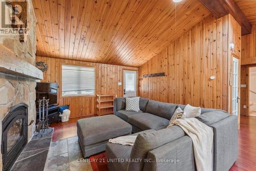
[[[210,14],[197,0],[177,4],[177,22],[172,0],[33,0],[33,6],[37,56],[134,67]]]

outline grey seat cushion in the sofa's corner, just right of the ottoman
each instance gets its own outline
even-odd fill
[[[128,117],[128,123],[135,125],[141,130],[155,130],[158,127],[167,126],[169,120],[150,113],[141,113]]]

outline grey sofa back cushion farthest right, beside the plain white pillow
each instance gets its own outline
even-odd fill
[[[197,116],[196,118],[204,124],[210,125],[212,123],[216,123],[222,119],[225,119],[228,116],[230,116],[228,113],[221,110],[216,110],[214,112],[204,113],[202,115]]]

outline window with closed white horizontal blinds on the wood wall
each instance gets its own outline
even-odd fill
[[[95,68],[62,65],[62,96],[94,95]]]

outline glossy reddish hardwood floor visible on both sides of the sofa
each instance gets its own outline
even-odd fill
[[[71,118],[68,122],[53,123],[53,141],[76,136],[76,121],[95,115]],[[256,170],[256,117],[241,116],[238,132],[238,160],[230,168],[235,170]]]

